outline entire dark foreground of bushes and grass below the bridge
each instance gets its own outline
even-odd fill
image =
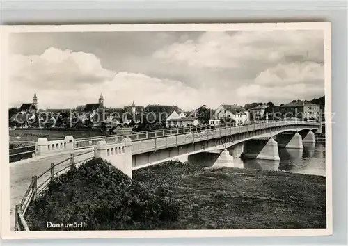
[[[33,230],[82,222],[88,230],[326,227],[325,177],[168,161],[133,172],[90,161],[29,207]]]

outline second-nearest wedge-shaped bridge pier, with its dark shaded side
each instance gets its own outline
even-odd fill
[[[244,142],[244,155],[246,158],[278,161],[278,143],[274,138],[269,140],[252,139]]]

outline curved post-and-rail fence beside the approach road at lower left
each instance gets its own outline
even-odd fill
[[[84,151],[80,154],[70,154],[70,157],[59,163],[51,163],[51,166],[47,168],[47,170],[45,170],[38,176],[32,177],[31,183],[24,192],[24,196],[21,202],[19,202],[19,204],[16,204],[15,206],[15,231],[29,231],[28,224],[25,220],[25,215],[30,203],[33,202],[37,197],[42,195],[42,192],[47,189],[49,183],[52,182],[56,177],[63,174],[64,172],[68,172],[68,170],[76,167],[81,163],[84,163],[85,161],[95,158],[95,154],[93,154],[92,157],[83,158],[79,161],[74,161],[74,158],[90,154],[94,151],[95,150],[93,149],[90,151]]]

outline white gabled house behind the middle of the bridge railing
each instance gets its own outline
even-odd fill
[[[249,112],[237,104],[221,104],[214,112],[214,118],[224,120],[226,123],[235,121],[235,124],[246,124],[249,122]]]

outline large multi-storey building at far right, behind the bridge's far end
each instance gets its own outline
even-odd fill
[[[320,106],[309,101],[294,100],[278,107],[284,119],[296,117],[299,120],[320,120]]]

